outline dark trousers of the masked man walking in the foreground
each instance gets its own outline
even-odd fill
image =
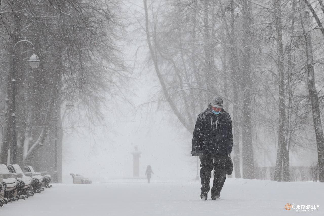
[[[221,190],[223,188],[226,174],[222,169],[224,160],[223,155],[215,155],[215,154],[204,154],[199,153],[200,158],[200,178],[202,181],[202,192],[209,192],[209,181],[211,177],[211,172],[214,169],[214,185],[212,187],[211,196],[220,196]],[[214,159],[214,162],[213,162]]]

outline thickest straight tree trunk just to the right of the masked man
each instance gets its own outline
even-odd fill
[[[252,9],[249,0],[243,0],[243,70],[242,70],[242,90],[243,90],[243,114],[242,114],[242,142],[243,142],[243,178],[253,179],[254,156],[252,145],[252,125],[251,125],[251,62],[252,62]]]

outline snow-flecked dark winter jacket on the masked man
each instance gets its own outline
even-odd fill
[[[215,115],[209,104],[197,118],[191,148],[193,152],[230,154],[233,148],[233,134],[229,114],[222,109],[220,114]]]

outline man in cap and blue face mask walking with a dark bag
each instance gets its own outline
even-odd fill
[[[193,131],[191,155],[199,156],[201,195],[207,199],[211,171],[214,169],[214,185],[211,198],[217,200],[223,188],[226,174],[231,174],[233,162],[230,153],[233,148],[232,120],[223,109],[223,99],[216,96],[207,109],[199,114]],[[213,162],[214,160],[214,162]],[[228,171],[231,166],[231,171]]]

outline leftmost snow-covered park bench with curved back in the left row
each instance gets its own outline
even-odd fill
[[[0,191],[0,201],[8,203],[19,199],[17,189],[20,186],[20,182],[17,181],[17,174],[10,173],[5,164],[0,164],[0,175],[2,188]]]

